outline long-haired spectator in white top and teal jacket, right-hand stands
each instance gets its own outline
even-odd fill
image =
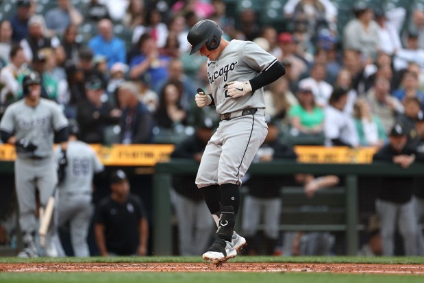
[[[371,113],[368,101],[362,97],[358,98],[353,110],[360,145],[382,147],[387,140],[386,129],[378,116]]]

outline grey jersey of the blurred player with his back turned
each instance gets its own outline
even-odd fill
[[[55,149],[55,159],[58,159],[60,147]],[[66,150],[68,165],[65,179],[60,184],[60,192],[74,195],[90,193],[92,190],[92,177],[95,173],[103,171],[104,167],[90,145],[80,141],[68,142]]]

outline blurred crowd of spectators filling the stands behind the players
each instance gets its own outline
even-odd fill
[[[227,39],[256,42],[286,67],[264,93],[282,143],[380,149],[404,133],[423,151],[420,1],[406,10],[378,5],[388,0],[280,0],[284,21],[275,23],[254,7],[234,12],[238,1],[57,0],[42,12],[41,0],[15,2],[0,22],[0,117],[37,71],[42,97],[77,121],[85,143],[177,144],[205,119],[217,126],[214,109],[195,104],[209,80],[186,40],[212,19]]]

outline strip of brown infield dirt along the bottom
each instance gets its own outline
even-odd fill
[[[305,264],[226,262],[217,268],[210,263],[2,263],[0,272],[330,272],[392,273],[424,275],[419,264]]]

